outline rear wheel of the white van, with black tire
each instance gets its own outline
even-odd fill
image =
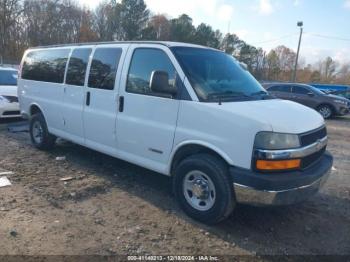
[[[41,128],[40,135],[36,133],[38,128]],[[56,137],[49,133],[45,118],[41,113],[37,113],[31,117],[29,133],[33,145],[40,150],[49,150],[55,145]]]

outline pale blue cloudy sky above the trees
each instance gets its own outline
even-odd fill
[[[79,0],[94,8],[101,0]],[[269,51],[283,44],[296,50],[297,21],[304,22],[301,56],[315,63],[326,56],[350,61],[350,0],[145,0],[154,14],[182,13],[195,25],[210,24]],[[331,37],[331,38],[329,38]],[[332,39],[336,38],[336,39]]]

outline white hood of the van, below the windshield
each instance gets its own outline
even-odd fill
[[[323,117],[301,104],[281,99],[216,104],[217,109],[265,123],[271,131],[301,134],[324,125]]]

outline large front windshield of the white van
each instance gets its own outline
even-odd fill
[[[232,56],[194,47],[172,47],[202,102],[271,99],[259,82]]]

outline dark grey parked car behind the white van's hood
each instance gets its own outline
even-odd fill
[[[350,100],[344,97],[327,94],[310,85],[263,83],[263,86],[271,95],[311,107],[317,110],[325,119],[349,113]]]

